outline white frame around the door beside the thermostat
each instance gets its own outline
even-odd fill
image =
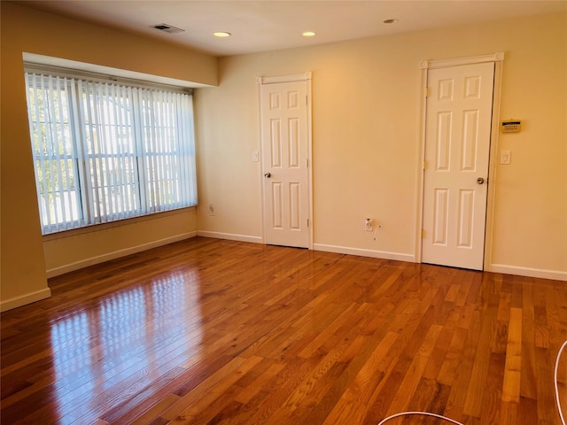
[[[439,60],[422,60],[421,68],[421,115],[420,115],[420,143],[419,143],[419,166],[417,169],[417,205],[416,205],[416,262],[422,262],[422,232],[423,232],[423,190],[424,188],[424,160],[425,160],[425,135],[427,125],[427,81],[430,69],[447,68],[452,66],[481,64],[485,62],[494,63],[494,85],[493,85],[493,111],[492,128],[490,133],[490,149],[488,159],[488,187],[486,192],[486,221],[485,221],[485,253],[483,270],[490,271],[492,266],[493,251],[493,216],[494,216],[494,193],[496,187],[496,165],[497,152],[500,135],[500,106],[502,88],[502,63],[504,52],[498,51],[493,54],[474,56],[467,58],[450,58]]]

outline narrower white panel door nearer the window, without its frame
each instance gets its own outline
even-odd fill
[[[309,247],[307,81],[261,84],[264,236],[275,245]]]

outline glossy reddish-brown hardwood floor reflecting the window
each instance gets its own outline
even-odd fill
[[[2,314],[4,425],[560,423],[567,282],[195,238],[50,288]]]

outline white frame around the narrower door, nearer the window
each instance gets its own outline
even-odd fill
[[[265,84],[278,84],[282,82],[307,82],[307,197],[308,201],[308,220],[309,226],[307,228],[309,235],[308,249],[313,250],[313,126],[312,126],[312,95],[311,95],[311,80],[312,73],[296,73],[292,75],[279,75],[273,77],[258,77],[258,115],[259,115],[259,131],[260,131],[260,158],[263,158],[263,146],[264,141],[262,139],[262,86]],[[261,215],[262,215],[262,243],[266,243],[266,199],[264,197],[264,185],[266,184],[266,179],[264,178],[264,163],[262,161],[260,165],[260,204],[261,204]]]

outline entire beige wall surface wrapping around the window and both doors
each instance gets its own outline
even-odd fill
[[[261,241],[256,78],[313,72],[315,248],[416,259],[423,59],[504,51],[493,254],[488,268],[567,276],[567,15],[540,16],[222,58],[220,87],[198,89],[197,211],[128,221],[63,237],[40,232],[22,53],[66,58],[200,84],[217,59],[135,35],[2,2],[1,306],[49,296],[56,274],[202,234]],[[124,52],[127,51],[128,54]],[[215,205],[210,217],[207,206]],[[382,228],[364,232],[371,216]],[[417,259],[418,260],[418,259]]]

